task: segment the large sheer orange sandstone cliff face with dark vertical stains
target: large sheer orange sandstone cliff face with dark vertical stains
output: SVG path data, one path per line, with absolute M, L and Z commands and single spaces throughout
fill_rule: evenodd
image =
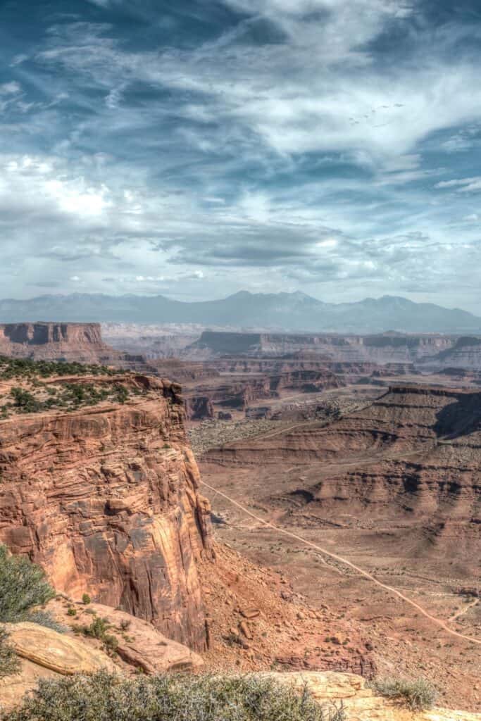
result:
M 144 394 L 125 404 L 0 422 L 0 541 L 58 590 L 88 592 L 200 650 L 195 562 L 209 545 L 208 508 L 180 389 L 130 382 Z

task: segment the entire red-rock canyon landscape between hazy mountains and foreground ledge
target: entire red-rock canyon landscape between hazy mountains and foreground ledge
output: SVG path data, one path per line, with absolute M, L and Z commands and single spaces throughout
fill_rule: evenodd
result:
M 177 359 L 112 351 L 97 328 L 9 330 L 17 358 L 112 355 L 78 375 L 0 364 L 0 542 L 69 598 L 52 606 L 63 623 L 89 593 L 106 617 L 146 624 L 120 642 L 136 663 L 151 628 L 172 663 L 422 673 L 444 704 L 480 709 L 462 639 L 481 638 L 477 373 L 423 365 L 455 339 L 360 338 L 312 350 L 286 335 L 205 359 L 194 343 Z

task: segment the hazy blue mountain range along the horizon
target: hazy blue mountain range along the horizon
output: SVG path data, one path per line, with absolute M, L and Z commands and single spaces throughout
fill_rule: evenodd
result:
M 74 293 L 0 300 L 0 322 L 196 323 L 206 327 L 291 332 L 481 333 L 481 318 L 461 309 L 383 296 L 357 303 L 323 303 L 304 293 L 241 291 L 219 301 L 185 303 L 165 296 Z

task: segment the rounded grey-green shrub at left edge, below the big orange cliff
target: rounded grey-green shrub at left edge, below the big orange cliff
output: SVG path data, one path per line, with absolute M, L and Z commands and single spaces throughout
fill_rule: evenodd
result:
M 0 622 L 24 621 L 30 609 L 53 596 L 39 566 L 25 556 L 12 556 L 0 545 Z

